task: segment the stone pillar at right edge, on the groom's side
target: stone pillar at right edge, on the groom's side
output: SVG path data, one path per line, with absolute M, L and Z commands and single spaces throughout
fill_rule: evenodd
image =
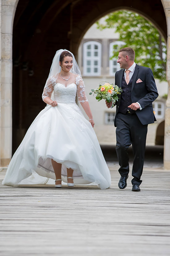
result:
M 164 169 L 170 170 L 170 0 L 162 0 L 167 20 L 167 81 L 168 99 L 165 110 L 165 135 L 164 135 Z

